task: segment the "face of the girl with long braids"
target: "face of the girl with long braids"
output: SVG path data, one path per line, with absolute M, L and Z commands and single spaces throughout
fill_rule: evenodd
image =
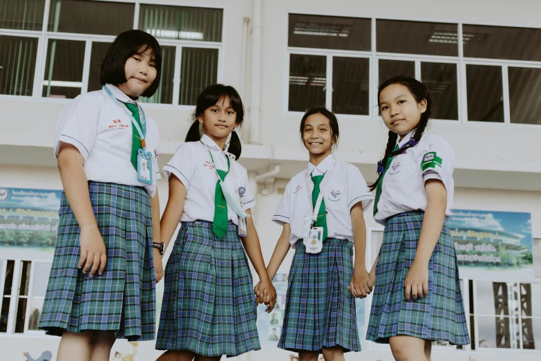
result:
M 402 84 L 390 84 L 379 94 L 379 110 L 386 127 L 400 138 L 410 133 L 426 111 L 426 100 L 417 102 Z

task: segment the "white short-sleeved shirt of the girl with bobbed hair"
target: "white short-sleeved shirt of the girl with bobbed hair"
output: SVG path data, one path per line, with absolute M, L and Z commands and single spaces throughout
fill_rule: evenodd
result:
M 107 87 L 120 102 L 137 104 L 116 86 L 107 84 Z M 156 181 L 162 178 L 158 167 L 158 124 L 146 116 L 146 151 L 152 154 L 153 167 L 153 183 L 148 185 L 137 179 L 137 170 L 131 164 L 133 125 L 122 107 L 124 104 L 115 102 L 104 89 L 78 95 L 59 115 L 55 126 L 55 156 L 58 157 L 60 142 L 69 143 L 84 158 L 86 179 L 144 187 L 153 198 Z

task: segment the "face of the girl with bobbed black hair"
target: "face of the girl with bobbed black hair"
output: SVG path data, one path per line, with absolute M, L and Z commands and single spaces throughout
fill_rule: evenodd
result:
M 156 79 L 158 71 L 155 65 L 151 48 L 132 55 L 124 65 L 126 82 L 117 85 L 118 89 L 131 98 L 139 97 Z

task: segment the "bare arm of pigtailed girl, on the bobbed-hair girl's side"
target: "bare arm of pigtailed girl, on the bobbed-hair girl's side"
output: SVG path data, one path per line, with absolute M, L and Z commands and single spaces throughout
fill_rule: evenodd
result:
M 169 199 L 160 221 L 161 239 L 164 242 L 164 252 L 177 229 L 178 222 L 184 210 L 184 199 L 187 189 L 180 179 L 171 173 L 169 178 Z

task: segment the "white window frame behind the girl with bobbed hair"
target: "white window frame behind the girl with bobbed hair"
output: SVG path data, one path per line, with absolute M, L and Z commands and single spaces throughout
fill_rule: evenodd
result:
M 218 68 L 216 82 L 223 82 L 224 76 L 224 48 L 226 46 L 225 29 L 227 26 L 228 7 L 230 6 L 205 6 L 204 4 L 195 3 L 190 1 L 189 3 L 182 3 L 182 5 L 171 4 L 164 0 L 150 1 L 150 0 L 87 0 L 87 1 L 106 1 L 106 2 L 118 2 L 118 3 L 134 3 L 135 10 L 133 16 L 133 29 L 137 29 L 139 26 L 140 6 L 144 5 L 164 5 L 164 6 L 178 6 L 178 7 L 196 7 L 196 8 L 212 8 L 222 10 L 222 41 L 197 41 L 197 40 L 180 40 L 180 39 L 164 39 L 157 38 L 161 46 L 174 46 L 175 47 L 175 64 L 173 71 L 173 102 L 171 104 L 162 103 L 149 103 L 141 102 L 143 108 L 158 108 L 158 109 L 180 109 L 192 111 L 195 105 L 179 104 L 180 94 L 180 71 L 182 68 L 181 57 L 182 48 L 209 48 L 218 49 Z M 85 53 L 82 75 L 82 87 L 81 94 L 88 92 L 88 77 L 90 76 L 90 59 L 92 42 L 113 42 L 115 36 L 113 35 L 96 35 L 96 34 L 82 34 L 82 33 L 59 33 L 48 31 L 48 17 L 50 12 L 50 0 L 45 0 L 44 10 L 44 22 L 41 31 L 36 30 L 17 30 L 17 29 L 0 29 L 0 35 L 13 36 L 13 37 L 33 37 L 38 39 L 37 54 L 36 54 L 36 66 L 34 72 L 34 82 L 32 84 L 32 96 L 25 95 L 7 95 L 0 94 L 0 99 L 6 100 L 38 100 L 39 102 L 51 102 L 68 104 L 73 99 L 62 98 L 47 98 L 43 95 L 43 83 L 45 76 L 45 67 L 47 63 L 47 48 L 49 39 L 59 40 L 73 40 L 73 41 L 85 41 Z M 146 99 L 146 98 L 145 98 Z

